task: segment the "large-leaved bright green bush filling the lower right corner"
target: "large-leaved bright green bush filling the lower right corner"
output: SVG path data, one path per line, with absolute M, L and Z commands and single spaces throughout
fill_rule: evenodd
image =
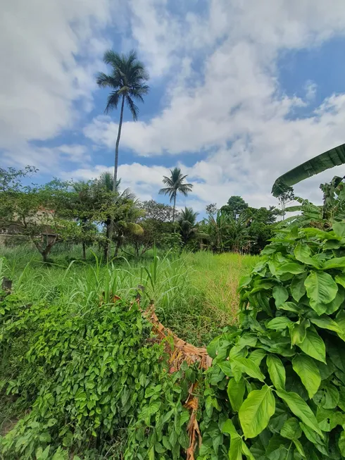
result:
M 208 347 L 199 459 L 345 458 L 345 223 L 282 230 Z

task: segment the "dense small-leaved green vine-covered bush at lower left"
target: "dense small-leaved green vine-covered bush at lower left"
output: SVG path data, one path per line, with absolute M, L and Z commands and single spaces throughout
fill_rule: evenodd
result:
M 0 302 L 0 392 L 20 420 L 0 440 L 1 459 L 180 459 L 184 402 L 196 376 L 170 374 L 164 347 L 134 302 L 23 305 Z

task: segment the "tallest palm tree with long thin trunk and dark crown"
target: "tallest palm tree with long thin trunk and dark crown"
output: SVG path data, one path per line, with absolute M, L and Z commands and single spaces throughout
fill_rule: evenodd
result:
M 120 144 L 121 129 L 123 125 L 123 110 L 125 102 L 132 113 L 134 121 L 138 118 L 139 108 L 134 101 L 144 102 L 143 96 L 149 92 L 146 81 L 149 80 L 149 74 L 145 70 L 144 64 L 138 60 L 137 53 L 130 51 L 129 54 L 118 54 L 115 51 L 108 50 L 104 53 L 103 61 L 112 68 L 111 74 L 99 73 L 97 75 L 97 85 L 112 89 L 108 96 L 105 112 L 120 108 L 120 121 L 118 124 L 118 137 L 115 144 L 115 162 L 113 175 L 113 190 L 116 189 L 118 180 L 118 146 Z M 113 230 L 113 220 L 111 220 L 111 229 Z M 107 256 L 110 257 L 110 244 L 107 248 Z

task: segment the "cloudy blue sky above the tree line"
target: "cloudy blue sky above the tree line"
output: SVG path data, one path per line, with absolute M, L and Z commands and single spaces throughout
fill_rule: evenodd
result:
M 125 111 L 119 176 L 139 199 L 178 166 L 194 185 L 178 206 L 232 195 L 277 205 L 282 173 L 345 142 L 344 0 L 4 0 L 0 164 L 35 182 L 113 170 L 119 111 L 104 115 L 106 49 L 136 49 L 150 92 Z M 296 185 L 318 185 L 345 166 Z

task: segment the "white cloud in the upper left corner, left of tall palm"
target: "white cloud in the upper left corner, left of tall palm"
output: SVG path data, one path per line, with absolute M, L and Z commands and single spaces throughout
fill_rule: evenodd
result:
M 99 34 L 110 18 L 111 0 L 2 2 L 0 149 L 70 128 L 77 99 L 90 108 L 94 72 L 108 46 Z

